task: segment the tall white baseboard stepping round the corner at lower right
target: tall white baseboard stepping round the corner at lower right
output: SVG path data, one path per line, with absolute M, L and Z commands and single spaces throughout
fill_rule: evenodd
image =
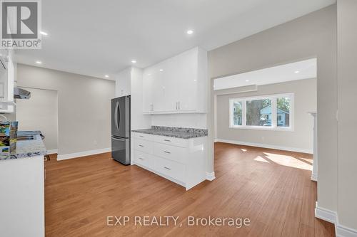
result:
M 343 226 L 338 222 L 338 214 L 336 213 L 336 211 L 331 211 L 319 207 L 317 201 L 315 208 L 315 217 L 335 224 L 336 237 L 357 237 L 357 230 Z

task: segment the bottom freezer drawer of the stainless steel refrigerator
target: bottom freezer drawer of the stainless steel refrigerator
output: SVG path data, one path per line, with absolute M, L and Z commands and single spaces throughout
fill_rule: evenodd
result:
M 130 164 L 130 139 L 111 137 L 111 157 L 121 164 Z

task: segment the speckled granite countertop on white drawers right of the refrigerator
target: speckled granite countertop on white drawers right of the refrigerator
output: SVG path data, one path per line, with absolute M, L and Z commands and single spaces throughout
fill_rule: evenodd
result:
M 186 127 L 151 126 L 150 129 L 131 130 L 131 131 L 152 134 L 152 135 L 166 136 L 166 137 L 177 137 L 183 139 L 189 139 L 194 137 L 206 137 L 208 135 L 208 130 L 206 129 L 186 128 Z

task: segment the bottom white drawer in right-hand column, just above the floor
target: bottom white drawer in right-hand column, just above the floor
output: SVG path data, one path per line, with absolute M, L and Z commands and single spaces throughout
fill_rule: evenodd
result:
M 155 157 L 154 167 L 156 172 L 185 183 L 185 166 L 183 164 L 172 162 L 169 159 Z

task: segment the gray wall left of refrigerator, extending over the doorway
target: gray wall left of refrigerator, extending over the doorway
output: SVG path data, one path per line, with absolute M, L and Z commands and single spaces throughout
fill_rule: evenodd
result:
M 18 64 L 17 85 L 58 91 L 59 154 L 111 147 L 114 81 Z

